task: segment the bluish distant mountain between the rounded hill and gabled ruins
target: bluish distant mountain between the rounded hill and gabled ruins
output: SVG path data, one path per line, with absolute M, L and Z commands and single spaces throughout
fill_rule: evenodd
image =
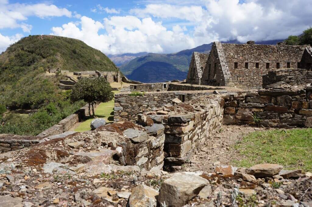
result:
M 275 45 L 277 42 L 283 40 L 270 40 L 270 41 L 258 41 L 256 44 L 263 45 Z M 237 40 L 222 42 L 222 43 L 232 43 L 232 44 L 241 44 Z M 155 54 L 149 53 L 147 55 L 137 57 L 128 63 L 120 66 L 120 70 L 127 78 L 145 82 L 145 83 L 155 83 L 155 82 L 165 82 L 168 80 L 179 79 L 183 80 L 187 76 L 189 63 L 192 58 L 193 52 L 200 53 L 209 53 L 211 50 L 210 44 L 203 44 L 201 46 L 197 46 L 192 49 L 182 50 L 176 53 L 171 54 Z M 149 64 L 148 64 L 149 63 Z M 163 64 L 166 63 L 166 64 Z M 152 65 L 155 64 L 155 65 Z M 161 67 L 159 71 L 163 71 L 164 73 L 157 73 L 157 77 L 155 77 L 154 72 L 148 72 L 149 70 L 157 70 L 157 66 Z M 139 69 L 139 70 L 137 70 Z M 177 70 L 181 71 L 178 73 Z M 145 77 L 147 76 L 145 73 L 142 75 L 142 72 L 146 72 L 146 74 L 153 74 L 153 77 Z M 177 76 L 173 76 L 172 74 L 176 74 Z M 144 77 L 141 77 L 144 76 Z M 146 79 L 146 81 L 143 81 Z

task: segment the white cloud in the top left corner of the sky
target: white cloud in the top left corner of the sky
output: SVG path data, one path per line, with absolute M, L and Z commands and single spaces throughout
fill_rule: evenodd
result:
M 39 18 L 61 16 L 72 17 L 72 13 L 66 8 L 59 8 L 53 4 L 10 4 L 7 0 L 0 0 L 0 29 L 22 28 L 24 32 L 30 33 L 32 26 L 24 21 L 31 16 Z M 79 14 L 75 13 L 75 17 L 80 18 L 81 15 L 79 16 Z

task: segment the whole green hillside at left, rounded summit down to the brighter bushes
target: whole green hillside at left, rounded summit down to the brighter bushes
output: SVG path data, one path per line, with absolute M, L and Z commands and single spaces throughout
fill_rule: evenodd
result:
M 0 133 L 36 135 L 85 104 L 70 103 L 68 92 L 58 89 L 62 74 L 46 74 L 56 68 L 118 70 L 106 55 L 80 40 L 50 35 L 21 39 L 0 55 L 0 106 L 11 112 L 32 109 L 37 113 L 0 114 Z

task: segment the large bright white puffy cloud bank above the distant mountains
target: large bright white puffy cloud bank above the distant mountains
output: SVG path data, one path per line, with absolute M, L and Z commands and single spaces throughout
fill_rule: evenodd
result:
M 99 34 L 102 29 L 105 29 L 105 34 Z M 80 28 L 70 22 L 62 27 L 53 27 L 51 34 L 80 39 L 105 54 L 163 53 L 195 46 L 193 39 L 183 33 L 184 29 L 175 27 L 170 31 L 162 26 L 162 22 L 134 16 L 109 17 L 103 23 L 81 17 Z

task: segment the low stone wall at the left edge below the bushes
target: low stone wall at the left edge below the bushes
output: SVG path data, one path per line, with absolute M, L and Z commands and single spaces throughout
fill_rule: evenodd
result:
M 0 134 L 0 152 L 19 150 L 39 143 L 37 137 Z

